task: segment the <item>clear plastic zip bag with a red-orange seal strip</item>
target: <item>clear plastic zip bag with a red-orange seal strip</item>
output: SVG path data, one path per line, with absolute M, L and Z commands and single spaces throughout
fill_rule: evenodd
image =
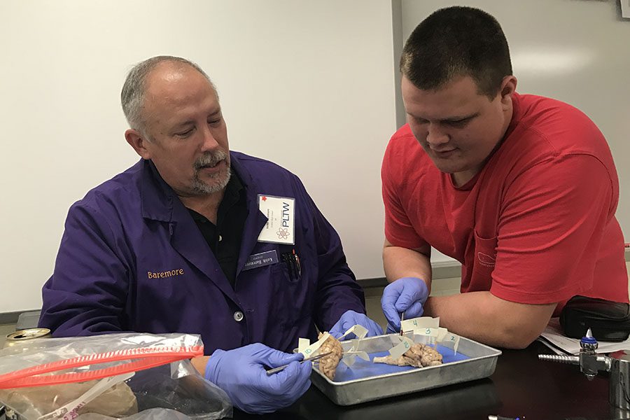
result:
M 22 420 L 231 416 L 228 395 L 190 363 L 202 355 L 197 335 L 34 339 L 0 351 L 0 402 Z

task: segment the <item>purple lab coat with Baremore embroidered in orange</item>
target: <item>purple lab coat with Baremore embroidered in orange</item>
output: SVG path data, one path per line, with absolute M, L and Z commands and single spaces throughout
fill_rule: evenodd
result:
M 299 337 L 316 338 L 315 325 L 328 330 L 348 309 L 365 313 L 339 236 L 300 179 L 272 162 L 230 155 L 248 209 L 234 288 L 186 207 L 141 160 L 70 208 L 39 325 L 57 337 L 197 333 L 211 354 L 253 342 L 290 351 Z M 258 242 L 267 222 L 258 194 L 295 198 L 295 245 Z M 297 281 L 280 258 L 243 270 L 249 255 L 294 248 Z

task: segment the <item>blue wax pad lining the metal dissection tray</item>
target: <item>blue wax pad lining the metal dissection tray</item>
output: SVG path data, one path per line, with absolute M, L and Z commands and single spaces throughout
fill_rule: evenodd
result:
M 462 353 L 454 354 L 453 349 L 448 347 L 437 345 L 437 351 L 442 354 L 442 363 L 457 362 L 459 360 L 466 360 L 469 357 Z M 348 366 L 343 362 L 339 362 L 337 366 L 337 373 L 335 374 L 335 382 L 353 381 L 354 379 L 368 378 L 379 376 L 381 374 L 390 374 L 405 372 L 407 370 L 422 369 L 421 367 L 412 366 L 394 366 L 386 365 L 385 363 L 373 363 L 374 357 L 387 356 L 388 351 L 379 351 L 378 353 L 369 353 L 370 361 L 363 360 L 362 358 L 355 358 L 355 362 L 352 366 Z

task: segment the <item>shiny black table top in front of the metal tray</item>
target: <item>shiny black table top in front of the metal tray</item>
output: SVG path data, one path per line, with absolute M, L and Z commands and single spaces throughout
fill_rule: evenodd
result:
M 486 379 L 340 407 L 315 386 L 295 404 L 273 414 L 235 419 L 472 420 L 490 414 L 521 419 L 628 419 L 608 403 L 608 373 L 589 381 L 577 365 L 538 360 L 552 353 L 540 342 L 524 350 L 503 350 Z

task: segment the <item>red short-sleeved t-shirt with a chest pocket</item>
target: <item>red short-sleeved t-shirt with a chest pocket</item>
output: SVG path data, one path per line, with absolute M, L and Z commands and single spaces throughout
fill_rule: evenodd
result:
M 503 144 L 461 187 L 440 172 L 409 125 L 387 146 L 385 236 L 433 246 L 462 264 L 461 291 L 559 302 L 573 295 L 628 302 L 619 181 L 603 134 L 581 111 L 514 94 Z

